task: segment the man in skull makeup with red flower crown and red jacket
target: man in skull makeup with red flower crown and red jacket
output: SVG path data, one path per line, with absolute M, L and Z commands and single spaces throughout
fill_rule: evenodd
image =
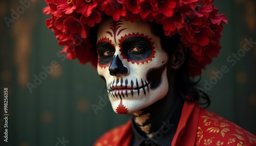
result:
M 212 1 L 46 3 L 47 26 L 63 52 L 97 64 L 113 110 L 132 114 L 95 145 L 256 144 L 248 131 L 200 108 L 208 95 L 189 79 L 220 49 L 227 21 Z

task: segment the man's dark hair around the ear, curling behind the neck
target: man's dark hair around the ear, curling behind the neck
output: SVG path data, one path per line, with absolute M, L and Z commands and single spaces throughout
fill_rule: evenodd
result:
M 182 42 L 180 41 L 180 35 L 176 34 L 172 37 L 168 37 L 164 35 L 163 26 L 161 24 L 157 24 L 156 22 L 151 22 L 151 30 L 152 33 L 158 37 L 160 37 L 160 43 L 164 52 L 170 56 Z M 209 96 L 197 87 L 201 76 L 198 81 L 194 82 L 189 78 L 188 75 L 188 60 L 190 57 L 191 51 L 187 48 L 186 58 L 183 65 L 176 71 L 175 74 L 175 90 L 177 94 L 181 96 L 185 101 L 188 102 L 196 102 L 202 100 L 203 102 L 199 102 L 201 105 L 205 105 L 207 108 L 210 105 Z M 189 95 L 192 99 L 187 99 L 185 95 Z

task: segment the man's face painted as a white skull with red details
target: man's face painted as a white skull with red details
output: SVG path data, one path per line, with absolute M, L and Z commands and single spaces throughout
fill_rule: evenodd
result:
M 97 52 L 97 71 L 106 81 L 116 113 L 137 112 L 167 94 L 168 56 L 147 23 L 104 19 L 98 29 Z

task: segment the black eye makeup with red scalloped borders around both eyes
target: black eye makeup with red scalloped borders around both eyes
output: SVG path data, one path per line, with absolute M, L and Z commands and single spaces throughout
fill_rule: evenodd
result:
M 152 61 L 156 53 L 151 38 L 138 33 L 121 37 L 119 46 L 122 58 L 132 62 L 132 64 L 144 64 Z M 112 41 L 109 38 L 102 38 L 98 41 L 96 49 L 99 56 L 99 66 L 104 68 L 109 66 L 116 51 Z

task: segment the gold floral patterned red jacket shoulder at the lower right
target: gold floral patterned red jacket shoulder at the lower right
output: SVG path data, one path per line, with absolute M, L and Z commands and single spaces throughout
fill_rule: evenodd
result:
M 203 140 L 201 140 L 203 139 Z M 205 109 L 198 120 L 196 145 L 253 145 L 256 137 L 236 124 Z M 255 143 L 254 143 L 255 144 Z

